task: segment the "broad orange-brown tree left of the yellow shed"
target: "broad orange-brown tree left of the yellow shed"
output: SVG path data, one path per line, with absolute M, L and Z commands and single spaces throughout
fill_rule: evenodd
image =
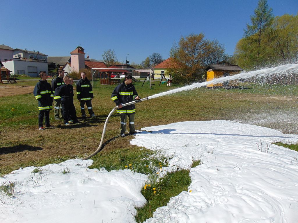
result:
M 175 67 L 169 68 L 176 83 L 191 83 L 201 81 L 204 75 L 204 62 L 210 51 L 210 41 L 203 33 L 181 36 L 178 44 L 175 42 L 170 51 Z

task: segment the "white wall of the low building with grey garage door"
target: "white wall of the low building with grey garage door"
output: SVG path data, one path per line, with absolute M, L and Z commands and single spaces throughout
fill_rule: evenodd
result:
M 21 71 L 21 74 L 28 75 L 30 77 L 38 77 L 40 71 L 45 71 L 48 74 L 48 63 L 46 62 L 32 62 L 24 60 L 10 60 L 3 62 L 4 67 L 8 70 L 11 70 L 13 74 L 18 74 L 18 70 Z M 37 67 L 37 73 L 28 73 L 30 72 L 30 67 Z M 29 71 L 28 71 L 29 70 Z M 24 73 L 23 73 L 24 72 Z

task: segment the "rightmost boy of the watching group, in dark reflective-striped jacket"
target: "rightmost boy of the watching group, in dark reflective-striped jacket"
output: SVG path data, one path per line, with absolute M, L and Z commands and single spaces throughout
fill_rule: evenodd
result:
M 80 101 L 82 117 L 86 117 L 85 103 L 91 117 L 95 117 L 92 109 L 91 100 L 93 99 L 93 91 L 90 81 L 86 77 L 86 73 L 81 73 L 81 79 L 77 81 L 77 99 Z

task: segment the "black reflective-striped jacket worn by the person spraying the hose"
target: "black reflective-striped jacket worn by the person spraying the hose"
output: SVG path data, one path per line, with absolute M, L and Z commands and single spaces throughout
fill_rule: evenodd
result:
M 115 87 L 114 91 L 112 92 L 111 99 L 116 103 L 116 105 L 119 105 L 121 103 L 125 104 L 131 102 L 135 100 L 137 96 L 138 93 L 136 92 L 134 85 L 129 84 L 126 86 L 123 81 L 122 84 L 119 84 L 117 87 Z M 117 109 L 117 114 L 134 114 L 136 112 L 135 108 L 135 104 L 131 104 L 122 107 L 121 109 Z

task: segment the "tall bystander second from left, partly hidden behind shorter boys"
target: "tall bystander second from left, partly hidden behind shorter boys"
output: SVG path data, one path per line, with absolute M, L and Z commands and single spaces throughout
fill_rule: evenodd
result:
M 55 93 L 55 89 L 63 85 L 64 70 L 58 70 L 58 77 L 52 80 L 52 91 Z M 54 118 L 56 120 L 62 119 L 62 107 L 61 107 L 61 97 L 59 95 L 54 95 Z

